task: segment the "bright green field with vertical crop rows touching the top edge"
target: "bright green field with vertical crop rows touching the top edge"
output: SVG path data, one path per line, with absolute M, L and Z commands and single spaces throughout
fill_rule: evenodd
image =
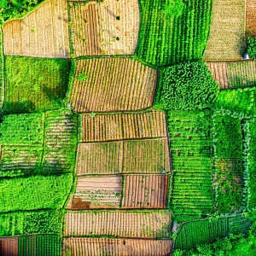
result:
M 140 0 L 137 56 L 155 66 L 201 60 L 212 0 Z

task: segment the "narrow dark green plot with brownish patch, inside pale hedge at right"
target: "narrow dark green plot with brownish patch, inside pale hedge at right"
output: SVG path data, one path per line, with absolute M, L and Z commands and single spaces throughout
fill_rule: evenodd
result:
M 216 207 L 219 213 L 240 212 L 243 188 L 241 119 L 216 113 L 212 122 Z

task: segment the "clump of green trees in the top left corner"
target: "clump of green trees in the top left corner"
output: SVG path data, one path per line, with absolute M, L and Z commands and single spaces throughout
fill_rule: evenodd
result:
M 44 0 L 0 0 L 0 25 L 4 21 L 19 18 L 34 9 Z

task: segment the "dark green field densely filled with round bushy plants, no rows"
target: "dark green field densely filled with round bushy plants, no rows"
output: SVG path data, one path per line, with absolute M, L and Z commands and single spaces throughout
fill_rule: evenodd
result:
M 155 105 L 165 110 L 209 108 L 218 90 L 204 62 L 181 63 L 160 69 Z

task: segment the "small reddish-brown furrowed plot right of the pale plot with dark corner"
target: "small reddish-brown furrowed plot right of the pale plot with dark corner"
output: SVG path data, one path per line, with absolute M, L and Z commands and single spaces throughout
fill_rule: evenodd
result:
M 166 208 L 168 175 L 125 176 L 124 208 Z

